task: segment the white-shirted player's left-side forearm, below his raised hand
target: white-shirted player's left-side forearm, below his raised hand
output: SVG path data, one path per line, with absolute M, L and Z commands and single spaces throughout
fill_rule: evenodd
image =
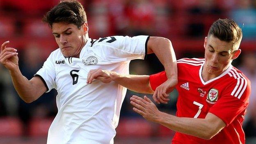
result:
M 35 95 L 37 94 L 36 87 L 27 80 L 25 76 L 21 74 L 19 69 L 9 71 L 11 75 L 11 80 L 13 82 L 14 88 L 16 89 L 18 95 L 26 103 L 31 103 L 35 100 Z

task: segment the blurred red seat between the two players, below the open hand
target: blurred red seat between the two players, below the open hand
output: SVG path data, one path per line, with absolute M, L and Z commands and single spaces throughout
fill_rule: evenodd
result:
M 117 126 L 117 137 L 150 137 L 152 124 L 144 119 L 121 119 Z

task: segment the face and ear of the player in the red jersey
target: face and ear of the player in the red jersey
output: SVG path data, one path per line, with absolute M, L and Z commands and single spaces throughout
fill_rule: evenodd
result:
M 231 64 L 232 60 L 237 58 L 241 50 L 239 44 L 221 41 L 214 36 L 205 38 L 205 64 L 203 72 L 215 77 L 221 75 Z

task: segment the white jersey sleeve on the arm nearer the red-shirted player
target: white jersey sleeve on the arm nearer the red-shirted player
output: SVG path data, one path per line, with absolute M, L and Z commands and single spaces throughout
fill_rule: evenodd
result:
M 112 62 L 145 59 L 149 36 L 112 36 L 95 41 L 93 51 Z

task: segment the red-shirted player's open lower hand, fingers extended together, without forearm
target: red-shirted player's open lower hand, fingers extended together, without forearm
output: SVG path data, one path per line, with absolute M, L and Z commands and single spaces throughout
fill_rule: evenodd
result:
M 132 96 L 130 103 L 134 106 L 133 110 L 142 115 L 146 120 L 157 122 L 159 119 L 160 111 L 155 104 L 146 96 L 140 98 L 138 96 Z

